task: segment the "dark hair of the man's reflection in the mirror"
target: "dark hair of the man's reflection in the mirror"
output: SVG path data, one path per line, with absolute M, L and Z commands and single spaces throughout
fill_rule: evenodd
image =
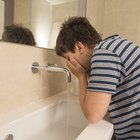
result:
M 5 26 L 1 40 L 26 45 L 36 45 L 32 32 L 28 28 L 18 24 Z

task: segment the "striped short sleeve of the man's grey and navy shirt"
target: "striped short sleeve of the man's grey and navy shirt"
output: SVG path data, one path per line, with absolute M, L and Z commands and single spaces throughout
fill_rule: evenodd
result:
M 115 53 L 105 49 L 94 51 L 87 90 L 115 94 L 122 67 L 120 57 Z

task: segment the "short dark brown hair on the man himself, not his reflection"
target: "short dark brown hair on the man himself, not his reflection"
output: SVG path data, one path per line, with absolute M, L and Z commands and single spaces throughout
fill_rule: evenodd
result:
M 74 52 L 75 43 L 80 41 L 89 48 L 101 41 L 99 33 L 85 17 L 70 17 L 65 21 L 56 41 L 56 54 L 63 56 L 64 53 Z

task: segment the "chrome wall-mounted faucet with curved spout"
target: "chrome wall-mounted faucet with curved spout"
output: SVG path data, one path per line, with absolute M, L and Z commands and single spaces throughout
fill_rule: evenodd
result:
M 67 80 L 71 82 L 71 74 L 70 71 L 64 67 L 58 67 L 57 64 L 48 64 L 47 66 L 39 66 L 38 62 L 34 62 L 32 64 L 32 72 L 37 73 L 39 70 L 46 70 L 48 72 L 64 72 L 67 76 Z

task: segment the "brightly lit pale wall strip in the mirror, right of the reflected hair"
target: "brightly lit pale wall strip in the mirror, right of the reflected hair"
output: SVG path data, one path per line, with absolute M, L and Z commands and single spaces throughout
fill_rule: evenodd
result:
M 46 0 L 32 0 L 31 30 L 38 46 L 47 48 L 52 28 L 52 5 Z

